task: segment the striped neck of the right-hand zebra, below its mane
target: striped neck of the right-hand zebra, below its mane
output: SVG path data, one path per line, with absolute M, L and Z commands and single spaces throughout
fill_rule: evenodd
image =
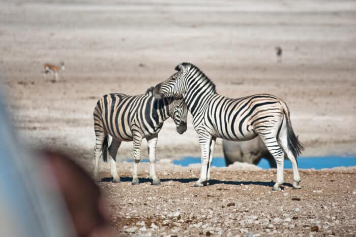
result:
M 200 78 L 192 81 L 188 90 L 183 94 L 184 101 L 189 111 L 194 116 L 209 101 L 215 92 L 215 86 L 209 79 Z

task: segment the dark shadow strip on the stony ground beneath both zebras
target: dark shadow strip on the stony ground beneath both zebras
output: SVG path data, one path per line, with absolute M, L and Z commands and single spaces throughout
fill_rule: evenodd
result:
M 120 177 L 121 182 L 132 182 L 132 177 Z M 146 179 L 146 178 L 138 178 L 139 183 L 152 183 L 152 179 Z M 180 182 L 180 183 L 193 183 L 196 182 L 198 179 L 197 178 L 181 178 L 181 179 L 161 179 L 161 182 Z M 101 180 L 101 182 L 112 182 L 112 177 L 106 177 Z M 264 182 L 264 181 L 221 181 L 221 180 L 210 180 L 209 181 L 209 186 L 211 185 L 216 185 L 216 184 L 225 184 L 225 185 L 259 185 L 259 186 L 265 186 L 265 187 L 273 187 L 275 184 L 274 181 L 269 181 L 269 182 Z M 292 184 L 290 183 L 283 183 L 283 186 L 288 186 L 288 187 L 293 187 Z M 281 186 L 281 189 L 283 187 Z

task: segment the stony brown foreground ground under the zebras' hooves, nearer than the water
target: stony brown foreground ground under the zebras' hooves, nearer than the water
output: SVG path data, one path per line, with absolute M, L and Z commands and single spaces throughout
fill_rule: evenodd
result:
M 276 170 L 238 165 L 213 168 L 209 186 L 194 188 L 197 167 L 159 163 L 162 184 L 151 185 L 148 164 L 131 185 L 132 163 L 121 164 L 122 182 L 104 178 L 118 236 L 355 236 L 353 168 L 302 170 L 302 189 L 292 189 L 285 171 L 283 191 L 273 192 Z M 144 171 L 144 172 L 143 172 Z M 109 177 L 109 173 L 105 173 Z M 249 235 L 250 234 L 250 235 Z

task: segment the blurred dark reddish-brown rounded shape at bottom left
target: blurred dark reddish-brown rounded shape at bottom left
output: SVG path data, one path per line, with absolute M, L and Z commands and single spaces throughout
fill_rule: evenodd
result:
M 110 215 L 97 184 L 64 154 L 44 151 L 72 217 L 78 236 L 112 236 Z

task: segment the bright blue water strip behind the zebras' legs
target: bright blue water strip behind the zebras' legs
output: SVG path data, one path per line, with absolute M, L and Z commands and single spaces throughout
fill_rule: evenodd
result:
M 200 158 L 198 157 L 185 157 L 181 160 L 173 160 L 173 164 L 178 164 L 182 166 L 188 166 L 189 164 L 200 163 Z M 212 162 L 213 166 L 224 167 L 225 159 L 216 157 Z M 270 164 L 266 159 L 261 159 L 257 166 L 268 169 Z M 356 157 L 339 157 L 339 156 L 323 156 L 323 157 L 299 157 L 298 167 L 299 168 L 315 168 L 315 170 L 320 170 L 321 168 L 333 168 L 339 166 L 356 166 Z M 292 164 L 289 160 L 284 160 L 284 168 L 292 168 Z

